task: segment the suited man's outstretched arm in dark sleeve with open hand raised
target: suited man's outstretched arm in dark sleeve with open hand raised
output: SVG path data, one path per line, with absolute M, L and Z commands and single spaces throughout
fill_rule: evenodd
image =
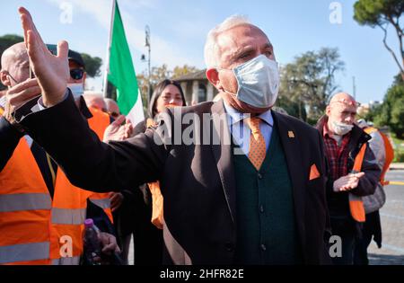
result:
M 157 180 L 169 149 L 154 142 L 154 129 L 125 142 L 102 143 L 66 91 L 66 41 L 59 42 L 57 56 L 52 55 L 31 14 L 24 8 L 19 12 L 31 67 L 47 107 L 23 115 L 22 127 L 56 160 L 69 181 L 85 190 L 125 190 Z

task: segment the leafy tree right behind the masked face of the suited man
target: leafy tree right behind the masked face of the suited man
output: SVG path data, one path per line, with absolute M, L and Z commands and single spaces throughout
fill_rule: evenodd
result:
M 316 121 L 324 113 L 329 97 L 337 91 L 335 75 L 344 67 L 338 49 L 305 52 L 281 68 L 280 97 L 297 103 L 297 117 Z

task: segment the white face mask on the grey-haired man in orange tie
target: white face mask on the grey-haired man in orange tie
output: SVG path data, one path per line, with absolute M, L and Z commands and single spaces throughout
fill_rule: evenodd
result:
M 258 108 L 268 108 L 277 102 L 279 71 L 276 61 L 259 55 L 235 67 L 233 73 L 239 89 L 231 94 L 236 95 L 239 101 Z

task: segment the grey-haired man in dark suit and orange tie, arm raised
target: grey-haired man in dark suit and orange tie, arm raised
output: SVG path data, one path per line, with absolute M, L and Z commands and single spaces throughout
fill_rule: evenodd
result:
M 233 16 L 209 32 L 206 76 L 223 101 L 171 108 L 145 134 L 103 144 L 77 118 L 66 91 L 66 41 L 58 57 L 52 56 L 31 15 L 23 8 L 20 13 L 48 109 L 13 123 L 30 130 L 68 178 L 88 190 L 160 181 L 164 263 L 330 262 L 321 136 L 271 111 L 279 75 L 263 31 Z M 193 137 L 203 144 L 177 139 L 189 135 L 189 117 L 193 124 L 200 121 Z

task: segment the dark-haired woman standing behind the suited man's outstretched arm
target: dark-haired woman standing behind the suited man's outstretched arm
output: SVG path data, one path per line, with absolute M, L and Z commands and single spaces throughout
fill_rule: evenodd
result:
M 180 84 L 163 80 L 156 85 L 150 100 L 148 117 L 134 128 L 134 136 L 154 125 L 156 116 L 167 107 L 186 106 Z M 140 190 L 125 196 L 120 207 L 123 257 L 127 257 L 131 234 L 134 235 L 135 264 L 161 265 L 162 240 L 162 194 L 159 182 L 144 184 Z M 140 209 L 143 208 L 143 209 Z

